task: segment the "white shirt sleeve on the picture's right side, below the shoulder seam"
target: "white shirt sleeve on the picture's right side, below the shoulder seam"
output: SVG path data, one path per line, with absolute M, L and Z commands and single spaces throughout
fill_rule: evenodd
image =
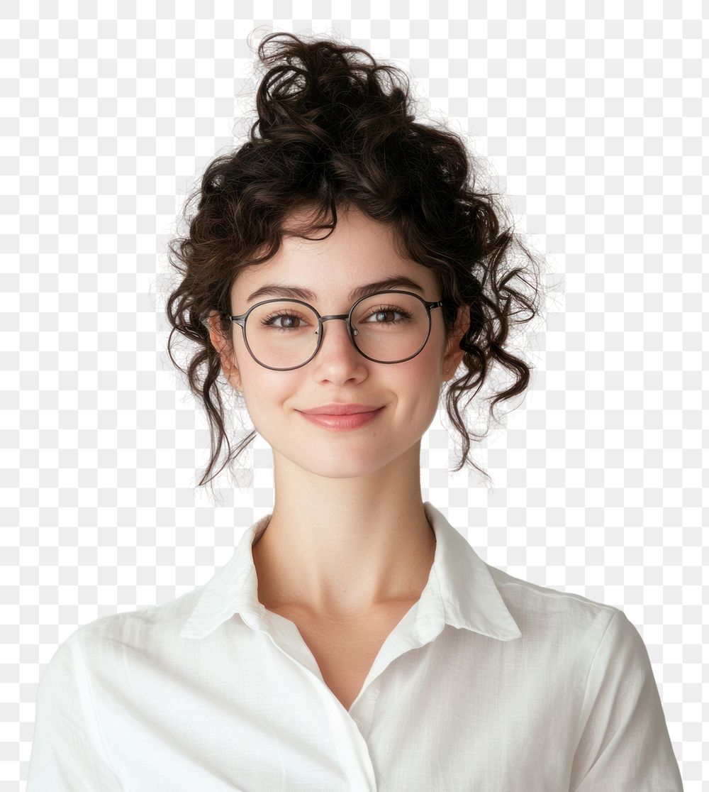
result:
M 612 615 L 591 662 L 570 792 L 682 792 L 643 638 Z

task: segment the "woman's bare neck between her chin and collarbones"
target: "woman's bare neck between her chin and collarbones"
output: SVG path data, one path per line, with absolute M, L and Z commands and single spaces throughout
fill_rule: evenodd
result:
M 418 463 L 418 457 L 416 459 Z M 252 546 L 259 600 L 330 619 L 415 601 L 434 562 L 416 475 L 276 477 L 275 506 Z

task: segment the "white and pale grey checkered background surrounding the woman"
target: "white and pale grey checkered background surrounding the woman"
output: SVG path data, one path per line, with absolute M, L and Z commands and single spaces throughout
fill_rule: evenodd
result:
M 0 792 L 25 787 L 57 645 L 206 582 L 273 504 L 260 438 L 236 484 L 195 491 L 207 422 L 169 363 L 163 313 L 185 194 L 252 112 L 254 29 L 256 43 L 336 32 L 404 68 L 544 253 L 532 386 L 475 451 L 494 485 L 449 473 L 442 414 L 423 438 L 423 497 L 492 565 L 625 611 L 685 789 L 709 789 L 701 3 L 100 9 L 0 4 Z

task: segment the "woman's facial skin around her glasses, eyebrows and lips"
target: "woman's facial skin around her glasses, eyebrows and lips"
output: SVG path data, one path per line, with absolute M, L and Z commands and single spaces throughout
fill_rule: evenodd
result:
M 336 230 L 328 239 L 313 242 L 286 236 L 275 257 L 242 271 L 233 284 L 232 311 L 244 314 L 264 299 L 282 296 L 248 300 L 264 284 L 282 284 L 313 291 L 315 296 L 306 302 L 321 315 L 347 314 L 354 287 L 399 275 L 419 284 L 423 299 L 441 299 L 435 273 L 402 259 L 391 230 L 359 211 L 338 212 Z M 220 348 L 215 314 L 211 321 L 212 342 Z M 323 328 L 313 360 L 290 371 L 271 371 L 252 358 L 241 327 L 233 323 L 233 357 L 225 347 L 222 367 L 230 383 L 242 391 L 256 430 L 275 455 L 328 478 L 376 473 L 407 452 L 418 466 L 419 441 L 435 417 L 440 386 L 461 360 L 460 335 L 452 337 L 452 353 L 446 356 L 442 309 L 434 308 L 430 336 L 421 352 L 403 363 L 381 364 L 354 348 L 346 322 L 333 319 Z M 313 424 L 299 412 L 330 402 L 384 409 L 369 424 L 349 431 Z

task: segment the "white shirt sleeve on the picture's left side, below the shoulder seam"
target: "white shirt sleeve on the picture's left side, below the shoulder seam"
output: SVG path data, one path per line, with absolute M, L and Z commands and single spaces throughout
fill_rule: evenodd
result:
M 81 628 L 49 661 L 37 688 L 26 792 L 121 792 L 97 722 Z

